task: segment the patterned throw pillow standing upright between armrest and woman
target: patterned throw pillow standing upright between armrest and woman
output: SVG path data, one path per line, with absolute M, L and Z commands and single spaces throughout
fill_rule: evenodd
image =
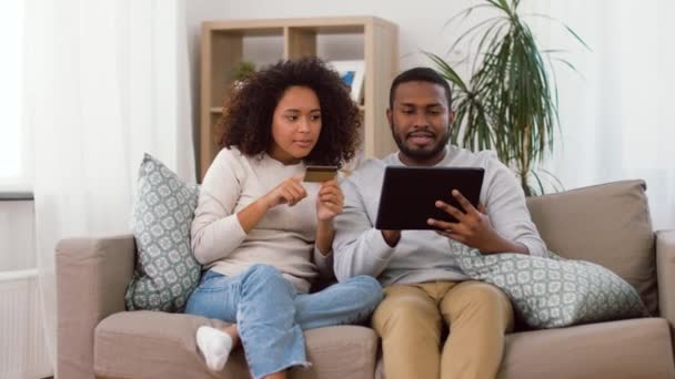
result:
M 149 154 L 138 185 L 131 222 L 138 259 L 127 286 L 127 308 L 181 311 L 201 272 L 190 248 L 199 187 L 187 185 Z

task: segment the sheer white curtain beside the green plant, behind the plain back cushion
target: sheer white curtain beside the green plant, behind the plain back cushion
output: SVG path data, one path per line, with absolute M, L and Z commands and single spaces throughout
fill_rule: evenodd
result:
M 625 178 L 647 183 L 655 228 L 675 228 L 675 1 L 528 1 L 535 34 L 580 71 L 557 65 L 561 135 L 550 168 L 566 188 Z

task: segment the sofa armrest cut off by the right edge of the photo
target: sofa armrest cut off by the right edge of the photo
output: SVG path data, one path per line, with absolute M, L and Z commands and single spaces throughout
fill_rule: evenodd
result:
M 658 311 L 675 327 L 675 229 L 656 232 L 656 276 Z M 671 331 L 673 336 L 673 331 Z

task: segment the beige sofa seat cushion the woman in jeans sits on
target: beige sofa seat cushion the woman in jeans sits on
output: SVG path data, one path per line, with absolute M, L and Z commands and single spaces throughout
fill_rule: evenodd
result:
M 197 348 L 202 325 L 224 322 L 199 316 L 159 311 L 124 311 L 103 319 L 94 331 L 94 372 L 103 378 L 248 378 L 238 348 L 222 372 L 213 373 Z M 304 332 L 309 369 L 291 378 L 373 378 L 377 337 L 360 326 L 336 326 Z

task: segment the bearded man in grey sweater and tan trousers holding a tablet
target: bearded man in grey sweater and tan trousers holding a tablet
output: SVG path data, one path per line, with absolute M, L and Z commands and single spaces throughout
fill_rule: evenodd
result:
M 386 286 L 372 322 L 382 337 L 387 379 L 494 378 L 513 309 L 496 287 L 469 280 L 452 246 L 545 256 L 523 191 L 494 153 L 447 145 L 452 95 L 435 71 L 416 68 L 396 76 L 386 117 L 400 151 L 365 162 L 343 182 L 344 212 L 335 218 L 333 243 L 335 274 L 340 280 L 372 275 Z M 430 219 L 437 232 L 375 229 L 372 221 L 386 165 L 483 167 L 481 205 L 476 209 L 447 188 L 465 213 L 440 201 L 436 206 L 457 223 Z M 445 325 L 450 335 L 441 349 Z

